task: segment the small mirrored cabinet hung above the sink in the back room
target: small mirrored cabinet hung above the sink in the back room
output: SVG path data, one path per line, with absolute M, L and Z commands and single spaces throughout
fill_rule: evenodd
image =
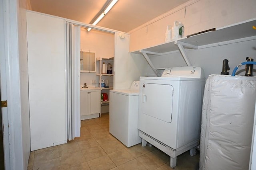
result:
M 80 71 L 96 72 L 95 53 L 90 51 L 80 51 Z

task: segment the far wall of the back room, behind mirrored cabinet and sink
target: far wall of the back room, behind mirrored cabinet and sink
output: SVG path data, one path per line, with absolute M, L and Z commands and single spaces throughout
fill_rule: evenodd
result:
M 80 48 L 83 51 L 91 51 L 95 53 L 96 58 L 114 57 L 114 33 L 106 31 L 98 31 L 92 29 L 89 32 L 85 27 L 81 27 Z M 81 50 L 80 49 L 80 50 Z M 96 65 L 99 69 L 99 64 Z M 96 84 L 92 84 L 92 80 L 96 80 Z M 109 79 L 109 83 L 113 84 L 113 78 Z M 99 76 L 96 73 L 80 73 L 80 86 L 86 83 L 88 86 L 99 86 Z

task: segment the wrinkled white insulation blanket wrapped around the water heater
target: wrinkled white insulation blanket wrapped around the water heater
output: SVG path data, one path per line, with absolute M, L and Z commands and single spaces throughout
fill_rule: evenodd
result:
M 256 77 L 210 75 L 202 106 L 200 170 L 248 170 Z

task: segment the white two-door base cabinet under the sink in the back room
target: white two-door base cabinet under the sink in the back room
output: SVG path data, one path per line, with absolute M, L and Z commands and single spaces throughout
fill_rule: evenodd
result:
M 81 120 L 99 117 L 100 89 L 80 90 L 80 117 Z

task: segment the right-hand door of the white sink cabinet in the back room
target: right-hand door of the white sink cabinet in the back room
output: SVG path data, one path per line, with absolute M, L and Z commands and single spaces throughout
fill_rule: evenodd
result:
M 90 91 L 89 114 L 100 113 L 100 90 Z

